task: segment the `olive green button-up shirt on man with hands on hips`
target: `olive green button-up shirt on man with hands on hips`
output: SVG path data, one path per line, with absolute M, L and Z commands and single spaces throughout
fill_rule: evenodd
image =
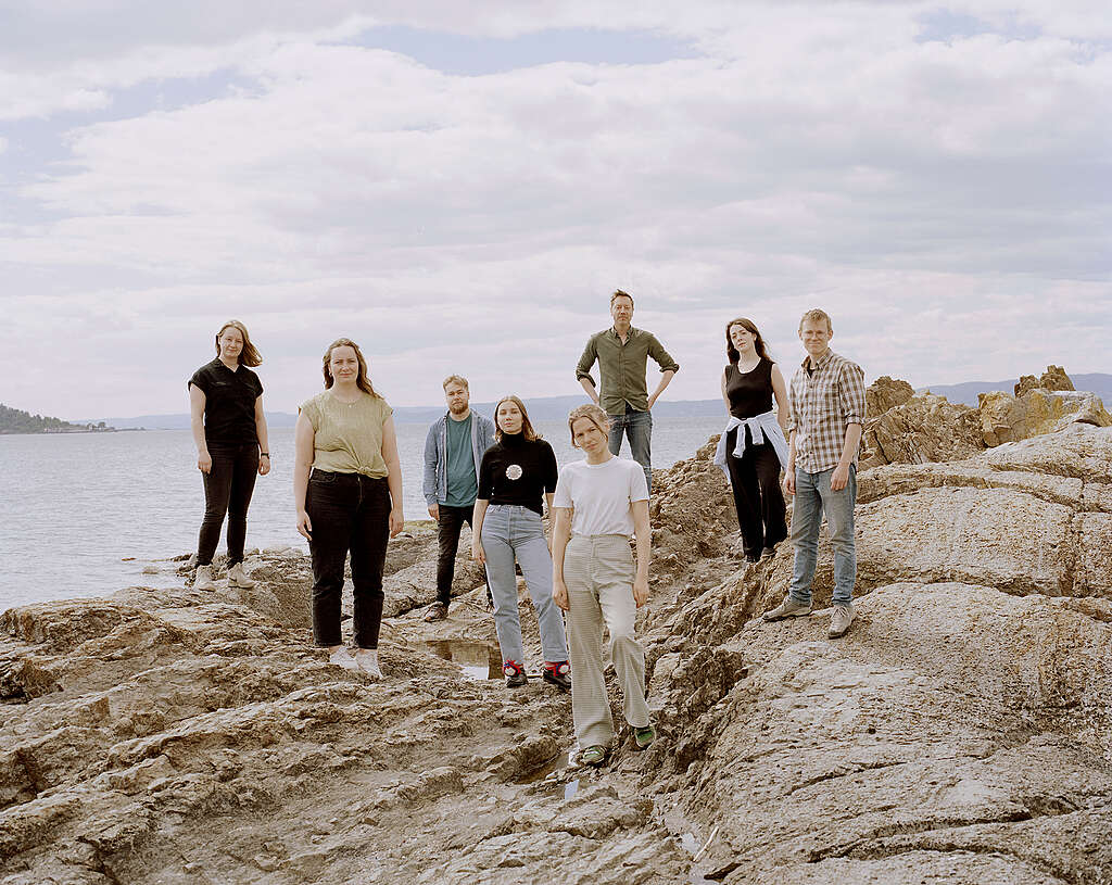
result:
M 576 378 L 587 378 L 592 384 L 590 367 L 598 360 L 600 389 L 598 404 L 607 415 L 623 415 L 626 404 L 637 411 L 648 411 L 648 388 L 645 386 L 645 366 L 652 357 L 661 371 L 679 371 L 676 362 L 656 336 L 644 329 L 629 327 L 625 344 L 612 326 L 590 336 L 575 367 Z

